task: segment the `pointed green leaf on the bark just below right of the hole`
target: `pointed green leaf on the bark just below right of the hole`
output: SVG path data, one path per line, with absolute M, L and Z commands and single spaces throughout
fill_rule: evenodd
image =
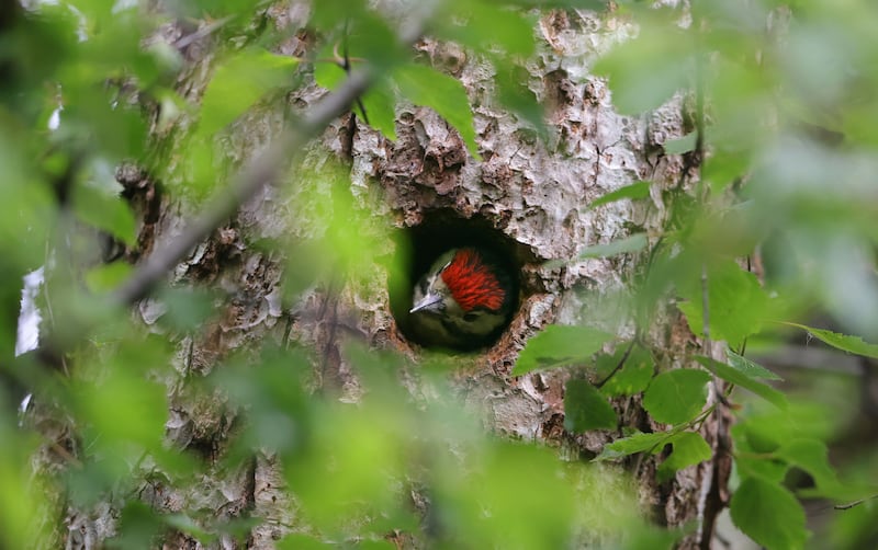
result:
M 526 375 L 539 368 L 585 363 L 612 337 L 612 334 L 587 326 L 550 324 L 528 340 L 518 356 L 513 376 Z

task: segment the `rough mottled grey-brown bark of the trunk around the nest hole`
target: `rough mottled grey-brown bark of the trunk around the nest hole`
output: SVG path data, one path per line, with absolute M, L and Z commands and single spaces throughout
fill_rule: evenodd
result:
M 308 35 L 296 34 L 301 10 L 294 4 L 269 11 L 270 19 L 291 36 L 282 54 L 302 55 L 309 47 Z M 680 180 L 683 160 L 665 156 L 662 145 L 688 131 L 684 128 L 683 102 L 677 99 L 643 116 L 622 116 L 614 111 L 606 82 L 589 75 L 599 54 L 633 32 L 630 23 L 612 12 L 543 14 L 534 28 L 539 53 L 527 62 L 522 79 L 545 106 L 548 144 L 498 104 L 491 64 L 454 45 L 425 38 L 417 44 L 423 57 L 459 78 L 469 92 L 482 160 L 468 154 L 458 133 L 435 112 L 410 105 L 397 112 L 395 142 L 347 116 L 326 129 L 304 160 L 305 167 L 318 168 L 329 157 L 341 159 L 349 167 L 354 205 L 369 213 L 375 227 L 403 229 L 430 219 L 441 224 L 441 216 L 446 216 L 477 219 L 483 225 L 480 227 L 493 228 L 509 239 L 509 253 L 516 255 L 522 270 L 520 307 L 496 345 L 462 360 L 463 366 L 453 375 L 455 385 L 491 429 L 563 447 L 573 457 L 593 457 L 621 433 L 573 435 L 563 429 L 563 386 L 569 371 L 516 378 L 510 370 L 526 341 L 548 323 L 586 323 L 622 336 L 633 335 L 630 321 L 619 316 L 621 306 L 614 290 L 621 288 L 642 259 L 615 256 L 570 261 L 563 267 L 545 265 L 550 260 L 573 259 L 584 247 L 626 237 L 634 227 L 655 230 L 664 214 L 662 191 Z M 210 37 L 190 45 L 184 54 L 191 65 L 181 77 L 179 90 L 198 103 L 213 61 Z M 289 98 L 289 106 L 306 110 L 325 93 L 307 85 Z M 239 164 L 264 148 L 282 122 L 283 113 L 277 108 L 257 108 L 236 123 L 221 149 L 230 164 Z M 156 140 L 165 151 L 175 150 L 175 140 L 182 134 L 156 127 Z M 169 154 L 162 183 L 170 190 L 184 188 L 185 173 L 177 165 L 179 160 Z M 244 205 L 235 219 L 218 228 L 173 274 L 181 284 L 222 287 L 232 296 L 218 305 L 221 313 L 212 324 L 177 342 L 179 379 L 169 385 L 168 437 L 176 446 L 196 449 L 206 460 L 222 455 L 226 436 L 240 419 L 219 396 L 200 394 L 190 387 L 189 378 L 216 368 L 236 350 L 264 341 L 306 343 L 320 352 L 322 364 L 315 368 L 323 377 L 322 385 L 341 399 L 357 399 L 359 388 L 340 351 L 341 342 L 351 334 L 372 346 L 419 357 L 419 347 L 406 340 L 394 320 L 387 273 L 380 263 L 357 280 L 335 280 L 305 293 L 295 303 L 282 302 L 283 253 L 248 243 L 280 236 L 293 242 L 320 236 L 327 228 L 312 211 L 309 200 L 315 193 L 331 193 L 317 180 L 290 180 L 266 187 Z M 620 202 L 586 209 L 594 199 L 638 180 L 653 182 L 651 205 Z M 149 186 L 143 190 L 151 192 Z M 143 213 L 150 216 L 144 226 L 149 233 L 147 242 L 142 243 L 146 250 L 173 239 L 191 214 L 191 206 L 179 194 L 173 200 L 162 199 L 158 214 L 155 196 L 151 200 Z M 392 240 L 383 245 L 387 254 L 395 253 Z M 161 309 L 147 299 L 137 311 L 143 322 L 151 325 Z M 661 368 L 684 366 L 683 358 L 697 345 L 685 320 L 669 307 L 646 337 L 657 351 Z M 640 399 L 621 399 L 614 404 L 624 425 L 662 428 L 651 424 Z M 728 425 L 718 426 L 712 419 L 701 428 L 714 447 L 718 431 L 727 429 Z M 702 519 L 709 507 L 706 502 L 724 493 L 728 475 L 725 467 L 705 462 L 658 484 L 656 457 L 638 457 L 626 466 L 639 481 L 644 511 L 657 524 L 667 526 Z M 263 456 L 240 471 L 216 471 L 189 486 L 153 479 L 144 485 L 142 497 L 162 512 L 195 507 L 213 509 L 217 518 L 252 513 L 263 522 L 251 531 L 251 548 L 271 548 L 273 539 L 295 525 L 293 497 L 283 490 L 277 465 Z M 82 517 L 81 512 L 70 512 L 70 529 L 97 532 L 104 525 L 103 514 L 89 513 L 90 517 Z M 105 535 L 106 529 L 101 532 Z M 178 537 L 168 540 L 168 548 L 199 547 L 183 535 Z M 697 534 L 689 537 L 684 546 L 697 547 L 698 538 Z M 233 542 L 221 539 L 218 547 L 232 548 Z

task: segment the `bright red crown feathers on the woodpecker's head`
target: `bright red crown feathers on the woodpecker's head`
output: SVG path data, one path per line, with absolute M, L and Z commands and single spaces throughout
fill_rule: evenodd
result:
M 464 311 L 479 307 L 498 310 L 503 307 L 506 293 L 497 275 L 473 249 L 460 249 L 454 254 L 454 259 L 442 271 L 442 280 Z

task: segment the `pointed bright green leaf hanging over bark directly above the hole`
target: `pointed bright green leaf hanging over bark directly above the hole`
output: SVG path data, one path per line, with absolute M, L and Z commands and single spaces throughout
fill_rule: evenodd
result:
M 397 67 L 393 80 L 412 103 L 430 107 L 448 121 L 460 133 L 470 154 L 481 160 L 470 100 L 459 80 L 418 64 Z

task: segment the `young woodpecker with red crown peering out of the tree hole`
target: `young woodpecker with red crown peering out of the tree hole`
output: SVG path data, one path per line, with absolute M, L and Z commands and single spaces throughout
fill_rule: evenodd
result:
M 457 350 L 491 343 L 509 321 L 516 301 L 514 280 L 486 251 L 449 250 L 415 285 L 408 313 L 417 340 Z

